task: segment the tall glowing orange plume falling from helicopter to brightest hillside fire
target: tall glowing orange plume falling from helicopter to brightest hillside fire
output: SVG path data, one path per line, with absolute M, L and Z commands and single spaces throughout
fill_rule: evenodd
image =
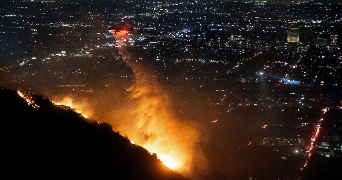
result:
M 200 159 L 202 164 L 206 164 L 205 158 L 198 149 L 195 149 L 196 141 L 199 139 L 195 125 L 172 118 L 174 116 L 171 100 L 168 93 L 159 85 L 154 71 L 146 68 L 137 58 L 131 57 L 127 46 L 120 44 L 120 41 L 117 43 L 123 61 L 132 69 L 135 77 L 130 88 L 130 99 L 136 104 L 131 112 L 139 115 L 128 117 L 129 119 L 125 119 L 118 129 L 133 140 L 134 144 L 156 153 L 170 169 L 188 176 L 192 171 L 195 156 L 196 160 Z

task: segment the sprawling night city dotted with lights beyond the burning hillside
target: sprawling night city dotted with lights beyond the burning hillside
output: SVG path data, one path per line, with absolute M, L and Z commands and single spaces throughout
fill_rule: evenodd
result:
M 5 0 L 0 86 L 71 99 L 123 134 L 120 118 L 185 123 L 190 179 L 324 179 L 341 167 L 341 37 L 338 1 Z M 134 115 L 140 79 L 168 115 Z

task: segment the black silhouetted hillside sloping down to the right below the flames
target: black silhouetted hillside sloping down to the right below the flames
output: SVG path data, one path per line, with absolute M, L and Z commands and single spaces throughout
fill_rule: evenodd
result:
M 114 132 L 107 123 L 82 118 L 34 96 L 29 106 L 17 92 L 0 88 L 1 162 L 10 178 L 186 179 Z

